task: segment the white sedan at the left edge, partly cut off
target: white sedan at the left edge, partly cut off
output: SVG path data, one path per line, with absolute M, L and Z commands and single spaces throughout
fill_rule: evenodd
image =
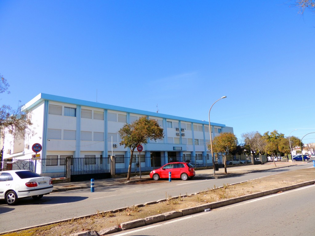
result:
M 50 177 L 26 170 L 0 171 L 0 199 L 8 205 L 16 204 L 19 198 L 40 199 L 52 191 Z

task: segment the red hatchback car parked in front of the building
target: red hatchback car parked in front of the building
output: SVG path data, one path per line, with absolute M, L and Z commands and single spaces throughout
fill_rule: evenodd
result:
M 192 164 L 186 162 L 172 162 L 151 171 L 150 178 L 154 180 L 168 178 L 169 172 L 171 172 L 172 178 L 181 178 L 182 180 L 187 180 L 195 176 L 195 170 Z

